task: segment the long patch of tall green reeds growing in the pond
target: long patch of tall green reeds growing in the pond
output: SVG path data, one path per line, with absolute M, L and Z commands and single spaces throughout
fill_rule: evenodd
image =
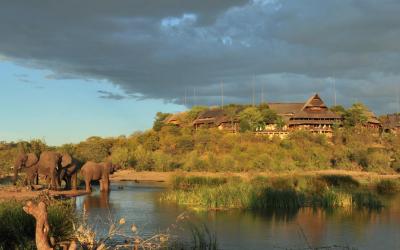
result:
M 266 178 L 250 181 L 238 178 L 180 176 L 183 189 L 175 185 L 163 194 L 172 201 L 195 209 L 248 209 L 257 211 L 296 210 L 301 207 L 377 209 L 383 206 L 378 195 L 362 187 L 349 176 Z M 194 183 L 186 185 L 186 183 Z M 204 184 L 202 184 L 204 183 Z M 190 188 L 188 188 L 190 187 Z

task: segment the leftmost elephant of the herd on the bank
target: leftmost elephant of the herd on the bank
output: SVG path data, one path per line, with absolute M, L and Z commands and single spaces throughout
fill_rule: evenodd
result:
M 35 184 L 35 179 L 38 175 L 37 162 L 38 157 L 34 153 L 21 153 L 17 156 L 14 163 L 14 185 L 17 184 L 18 172 L 24 171 L 26 173 L 25 184 L 33 185 Z

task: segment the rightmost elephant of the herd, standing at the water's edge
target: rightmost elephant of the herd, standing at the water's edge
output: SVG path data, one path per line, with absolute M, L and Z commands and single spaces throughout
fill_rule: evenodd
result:
M 100 181 L 100 191 L 108 192 L 110 186 L 110 174 L 117 170 L 117 166 L 111 162 L 96 163 L 86 162 L 81 169 L 81 175 L 85 179 L 86 192 L 91 192 L 91 181 Z

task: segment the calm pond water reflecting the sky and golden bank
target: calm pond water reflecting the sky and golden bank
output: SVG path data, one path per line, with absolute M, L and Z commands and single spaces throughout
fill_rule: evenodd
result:
M 148 237 L 174 228 L 176 218 L 187 211 L 189 220 L 205 224 L 214 232 L 221 249 L 304 249 L 348 246 L 356 249 L 400 249 L 400 197 L 380 211 L 358 209 L 301 209 L 292 213 L 242 211 L 193 212 L 159 201 L 164 187 L 156 184 L 116 182 L 111 192 L 76 198 L 77 211 L 84 214 L 100 236 L 110 219 L 135 224 Z M 178 225 L 180 234 L 185 227 Z M 182 228 L 182 229 L 180 229 Z M 337 248 L 339 249 L 339 248 Z

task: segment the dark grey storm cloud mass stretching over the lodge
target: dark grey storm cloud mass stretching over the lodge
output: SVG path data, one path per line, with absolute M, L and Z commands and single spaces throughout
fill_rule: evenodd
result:
M 106 79 L 124 95 L 188 104 L 364 101 L 394 111 L 395 0 L 1 1 L 0 54 L 52 78 Z M 195 93 L 193 93 L 195 92 Z M 114 96 L 115 95 L 115 96 Z

